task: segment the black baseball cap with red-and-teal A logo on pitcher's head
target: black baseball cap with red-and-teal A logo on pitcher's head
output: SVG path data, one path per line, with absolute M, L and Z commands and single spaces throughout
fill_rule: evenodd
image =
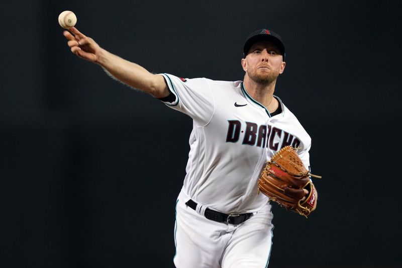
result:
M 243 57 L 245 58 L 250 50 L 251 46 L 257 42 L 268 41 L 274 43 L 280 50 L 283 56 L 283 61 L 285 61 L 285 45 L 282 42 L 282 38 L 277 33 L 272 32 L 268 29 L 261 29 L 255 31 L 247 37 L 246 42 L 243 46 Z

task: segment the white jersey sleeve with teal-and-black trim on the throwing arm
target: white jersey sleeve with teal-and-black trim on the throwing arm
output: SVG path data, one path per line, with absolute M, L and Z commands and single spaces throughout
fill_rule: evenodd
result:
M 211 120 L 215 102 L 210 84 L 206 78 L 183 79 L 163 73 L 171 94 L 175 96 L 173 102 L 162 102 L 168 107 L 180 111 L 191 117 L 198 126 L 205 126 Z

